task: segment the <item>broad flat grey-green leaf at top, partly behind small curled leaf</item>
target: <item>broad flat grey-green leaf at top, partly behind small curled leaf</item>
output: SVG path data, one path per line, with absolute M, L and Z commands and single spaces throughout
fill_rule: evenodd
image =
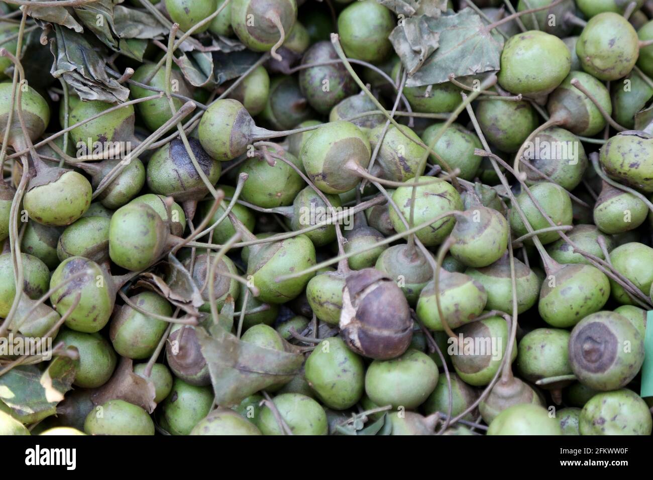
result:
M 439 33 L 438 49 L 426 59 L 422 67 L 410 76 L 407 87 L 441 84 L 449 75 L 466 76 L 498 71 L 503 49 L 503 38 L 490 33 L 483 20 L 471 8 L 439 18 L 424 17 L 428 29 Z M 419 63 L 419 54 L 413 51 L 396 27 L 390 35 L 392 46 L 407 69 Z

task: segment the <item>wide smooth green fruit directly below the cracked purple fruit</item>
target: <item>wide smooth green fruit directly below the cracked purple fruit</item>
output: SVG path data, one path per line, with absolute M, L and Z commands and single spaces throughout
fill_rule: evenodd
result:
M 409 349 L 392 360 L 374 360 L 365 374 L 365 392 L 377 405 L 414 409 L 438 384 L 438 367 L 426 353 Z

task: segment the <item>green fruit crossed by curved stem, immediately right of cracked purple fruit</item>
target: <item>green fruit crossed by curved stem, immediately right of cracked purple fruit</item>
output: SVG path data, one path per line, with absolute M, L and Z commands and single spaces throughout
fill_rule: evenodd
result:
M 439 291 L 440 308 L 451 328 L 465 325 L 481 315 L 488 298 L 481 283 L 457 272 L 440 275 Z M 438 313 L 434 280 L 426 283 L 419 295 L 415 313 L 427 328 L 445 329 Z

